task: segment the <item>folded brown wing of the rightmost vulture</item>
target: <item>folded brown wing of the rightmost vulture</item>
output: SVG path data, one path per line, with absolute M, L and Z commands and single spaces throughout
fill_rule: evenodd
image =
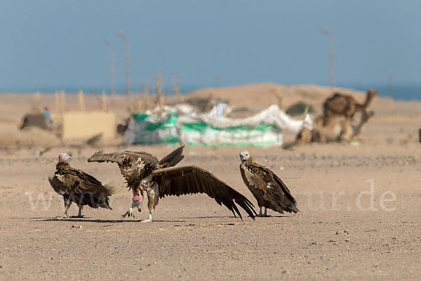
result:
M 290 190 L 285 183 L 274 174 L 269 168 L 261 166 L 257 163 L 247 165 L 248 171 L 254 176 L 265 182 L 265 185 L 259 185 L 263 192 L 263 199 L 269 202 L 269 209 L 283 213 L 283 211 L 297 213 L 300 211 L 297 207 L 297 201 L 291 195 Z M 241 171 L 243 173 L 243 171 Z M 244 176 L 243 176 L 244 178 Z M 268 187 L 270 186 L 270 188 Z

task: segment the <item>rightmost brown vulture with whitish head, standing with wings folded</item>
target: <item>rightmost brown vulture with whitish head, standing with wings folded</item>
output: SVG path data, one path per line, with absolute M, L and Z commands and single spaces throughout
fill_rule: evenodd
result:
M 240 171 L 244 183 L 253 193 L 260 208 L 258 216 L 267 216 L 267 208 L 283 214 L 283 211 L 297 213 L 297 202 L 285 183 L 265 166 L 253 162 L 247 151 L 240 153 Z M 262 214 L 265 207 L 265 214 Z

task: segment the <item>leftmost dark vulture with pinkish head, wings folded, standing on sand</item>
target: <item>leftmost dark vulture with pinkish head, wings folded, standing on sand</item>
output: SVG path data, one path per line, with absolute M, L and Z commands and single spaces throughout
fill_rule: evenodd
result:
M 79 207 L 76 218 L 83 218 L 82 208 L 85 205 L 95 209 L 101 207 L 111 210 L 108 197 L 112 192 L 93 176 L 72 168 L 69 159 L 72 159 L 72 155 L 65 153 L 58 155 L 54 176 L 48 177 L 53 190 L 62 195 L 65 201 L 65 214 L 61 217 L 67 217 L 67 210 L 72 202 Z

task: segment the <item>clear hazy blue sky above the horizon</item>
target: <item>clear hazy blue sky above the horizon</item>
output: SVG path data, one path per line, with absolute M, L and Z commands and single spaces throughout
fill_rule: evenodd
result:
M 0 90 L 109 89 L 109 38 L 124 85 L 182 74 L 185 86 L 272 81 L 421 83 L 421 1 L 0 1 Z M 215 78 L 216 77 L 216 78 Z

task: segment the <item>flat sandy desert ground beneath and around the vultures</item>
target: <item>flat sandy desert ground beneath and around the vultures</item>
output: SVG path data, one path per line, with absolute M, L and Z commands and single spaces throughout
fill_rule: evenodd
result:
M 0 98 L 3 108 L 20 105 Z M 241 150 L 283 178 L 300 213 L 269 211 L 255 221 L 245 212 L 243 221 L 234 218 L 206 195 L 164 198 L 154 223 L 139 222 L 146 204 L 135 219 L 121 219 L 131 192 L 115 164 L 86 162 L 95 148 L 58 144 L 36 157 L 32 150 L 42 143 L 4 147 L 0 280 L 420 280 L 419 109 L 375 100 L 360 145 L 186 148 L 180 164 L 208 169 L 252 202 L 239 173 Z M 10 116 L 0 116 L 0 133 L 18 123 Z M 163 157 L 173 147 L 102 148 L 124 149 Z M 60 152 L 116 186 L 113 211 L 86 208 L 86 218 L 53 219 L 64 208 L 47 178 Z M 75 205 L 69 214 L 77 214 Z

